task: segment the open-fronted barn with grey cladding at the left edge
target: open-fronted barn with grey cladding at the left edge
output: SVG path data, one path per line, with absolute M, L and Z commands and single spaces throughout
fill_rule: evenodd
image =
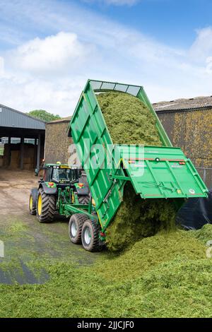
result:
M 45 122 L 0 105 L 0 167 L 33 170 L 44 155 Z

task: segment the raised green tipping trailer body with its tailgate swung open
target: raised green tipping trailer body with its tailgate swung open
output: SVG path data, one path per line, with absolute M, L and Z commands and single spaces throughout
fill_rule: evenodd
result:
M 97 93 L 106 91 L 129 93 L 142 100 L 155 117 L 163 146 L 114 145 L 96 97 Z M 178 208 L 186 198 L 207 197 L 208 189 L 192 161 L 180 148 L 172 147 L 142 86 L 88 80 L 71 119 L 69 136 L 76 144 L 78 158 L 95 202 L 96 215 L 87 213 L 87 217 L 90 223 L 97 224 L 98 236 L 102 240 L 122 204 L 124 186 L 128 181 L 142 199 L 172 198 Z M 98 149 L 107 160 L 104 167 L 96 167 L 98 157 L 95 158 L 95 146 L 102 147 Z M 73 206 L 67 208 L 69 213 L 81 212 L 73 211 Z

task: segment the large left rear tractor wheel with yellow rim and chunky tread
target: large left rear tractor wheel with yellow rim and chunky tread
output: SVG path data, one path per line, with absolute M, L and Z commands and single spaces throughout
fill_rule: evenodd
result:
M 55 196 L 45 194 L 39 189 L 37 195 L 37 219 L 40 223 L 51 223 L 55 213 Z

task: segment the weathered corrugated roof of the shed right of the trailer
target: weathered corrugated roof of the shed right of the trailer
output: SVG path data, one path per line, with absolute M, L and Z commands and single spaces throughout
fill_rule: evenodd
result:
M 178 111 L 189 109 L 212 109 L 212 96 L 194 97 L 189 99 L 170 100 L 169 102 L 156 102 L 153 104 L 156 112 L 161 111 Z

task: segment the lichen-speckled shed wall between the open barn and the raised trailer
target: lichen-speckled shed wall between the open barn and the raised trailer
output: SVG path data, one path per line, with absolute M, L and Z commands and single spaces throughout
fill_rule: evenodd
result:
M 72 139 L 68 137 L 67 129 L 71 117 L 50 121 L 46 124 L 45 162 L 68 163 Z

